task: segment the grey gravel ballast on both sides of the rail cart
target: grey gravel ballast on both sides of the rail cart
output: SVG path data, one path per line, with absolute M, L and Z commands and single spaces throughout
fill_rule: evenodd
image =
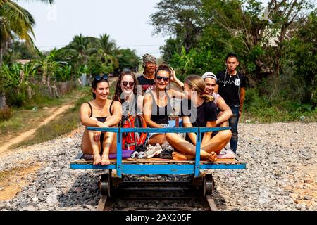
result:
M 210 171 L 218 208 L 316 211 L 317 123 L 239 124 L 238 129 L 237 154 L 247 169 Z M 103 172 L 69 169 L 80 152 L 82 130 L 0 158 L 0 172 L 39 167 L 23 176 L 26 184 L 14 198 L 0 200 L 0 210 L 96 210 Z M 2 185 L 0 194 L 11 184 Z

